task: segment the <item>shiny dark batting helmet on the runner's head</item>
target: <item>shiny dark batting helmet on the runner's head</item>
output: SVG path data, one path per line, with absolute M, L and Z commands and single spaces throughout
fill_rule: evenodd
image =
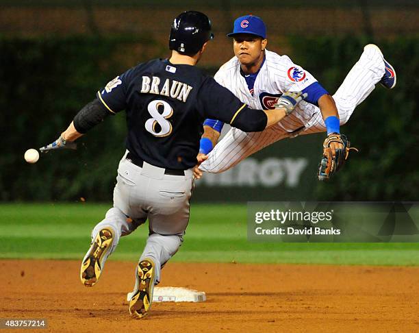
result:
M 173 21 L 170 30 L 169 49 L 186 55 L 197 53 L 202 45 L 214 38 L 211 21 L 201 12 L 183 12 Z

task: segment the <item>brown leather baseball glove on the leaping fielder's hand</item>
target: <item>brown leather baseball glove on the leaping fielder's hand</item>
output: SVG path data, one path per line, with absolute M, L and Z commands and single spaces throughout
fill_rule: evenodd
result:
M 343 148 L 333 148 L 331 143 L 340 144 Z M 351 150 L 358 151 L 358 149 L 351 147 L 351 142 L 344 134 L 329 134 L 323 143 L 323 156 L 318 168 L 318 179 L 329 180 L 335 172 L 342 168 Z

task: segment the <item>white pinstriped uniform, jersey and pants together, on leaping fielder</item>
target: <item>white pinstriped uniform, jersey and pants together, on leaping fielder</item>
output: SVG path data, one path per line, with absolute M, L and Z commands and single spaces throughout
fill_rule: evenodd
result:
M 278 56 L 276 53 L 266 51 L 266 60 L 256 77 L 253 95 L 249 92 L 244 77 L 240 75 L 240 64 L 236 58 L 224 64 L 215 78 L 219 84 L 231 90 L 244 103 L 248 103 L 253 108 L 261 108 L 260 95 L 263 97 L 266 96 L 265 93 L 280 94 L 287 89 L 303 90 L 305 86 L 316 81 L 312 75 L 298 66 L 296 66 L 298 67 L 296 73 L 294 70 L 290 71 L 294 66 L 296 65 L 287 56 Z M 288 73 L 291 77 L 288 77 Z M 333 95 L 339 112 L 340 125 L 348 121 L 356 106 L 370 95 L 384 73 L 385 66 L 381 51 L 378 47 L 365 47 L 361 57 Z M 307 81 L 304 74 L 308 78 Z M 269 97 L 266 99 L 263 104 L 272 106 L 273 99 Z M 313 116 L 312 119 L 310 115 Z M 297 132 L 299 135 L 326 130 L 320 109 L 305 101 L 301 101 L 292 114 L 263 132 L 245 133 L 231 128 L 208 154 L 208 159 L 201 164 L 199 169 L 210 173 L 226 171 L 256 151 L 283 138 L 294 136 L 294 133 L 290 134 L 290 132 L 303 125 L 305 128 L 302 132 Z

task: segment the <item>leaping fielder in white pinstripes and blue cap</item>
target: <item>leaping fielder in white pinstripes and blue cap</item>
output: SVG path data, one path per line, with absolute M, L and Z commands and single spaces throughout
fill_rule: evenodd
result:
M 358 62 L 332 97 L 311 73 L 294 64 L 288 56 L 266 49 L 266 27 L 261 18 L 251 15 L 237 18 L 233 32 L 227 36 L 233 38 L 235 57 L 220 67 L 214 79 L 242 102 L 252 108 L 269 109 L 285 91 L 301 90 L 308 97 L 290 116 L 263 132 L 245 133 L 232 128 L 218 144 L 223 123 L 205 120 L 199 158 L 208 155 L 199 169 L 194 169 L 196 178 L 201 177 L 202 171 L 226 171 L 256 151 L 299 134 L 326 131 L 325 152 L 329 149 L 335 156 L 335 152 L 348 148 L 342 140 L 345 137 L 340 134 L 340 125 L 348 121 L 356 106 L 370 95 L 377 83 L 386 88 L 396 85 L 396 73 L 376 45 L 364 47 Z M 318 177 L 327 179 L 329 173 L 320 168 Z

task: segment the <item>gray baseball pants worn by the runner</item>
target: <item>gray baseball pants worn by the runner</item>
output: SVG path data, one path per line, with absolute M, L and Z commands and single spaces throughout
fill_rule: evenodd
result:
M 116 249 L 121 236 L 134 232 L 149 219 L 149 238 L 140 260 L 155 262 L 155 283 L 160 282 L 161 269 L 177 252 L 189 221 L 192 194 L 192 169 L 185 175 L 166 175 L 165 169 L 144 162 L 142 167 L 125 156 L 120 160 L 114 188 L 114 207 L 92 231 L 110 227 L 114 242 L 108 256 Z

